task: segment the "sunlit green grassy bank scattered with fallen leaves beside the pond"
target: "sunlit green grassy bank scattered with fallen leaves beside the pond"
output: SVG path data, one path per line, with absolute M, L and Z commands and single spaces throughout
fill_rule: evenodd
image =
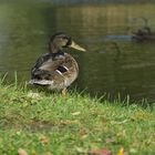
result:
M 154 108 L 0 85 L 1 155 L 116 155 L 121 147 L 155 154 Z

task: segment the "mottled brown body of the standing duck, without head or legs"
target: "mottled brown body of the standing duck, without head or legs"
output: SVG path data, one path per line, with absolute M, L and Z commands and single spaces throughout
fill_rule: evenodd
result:
M 70 85 L 78 76 L 79 68 L 76 61 L 68 53 L 64 55 L 41 56 L 32 68 L 31 84 L 53 85 L 64 87 Z

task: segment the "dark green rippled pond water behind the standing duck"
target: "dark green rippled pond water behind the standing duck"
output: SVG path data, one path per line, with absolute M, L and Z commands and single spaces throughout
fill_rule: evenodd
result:
M 155 42 L 137 43 L 131 32 L 155 30 L 155 6 L 106 4 L 54 7 L 43 1 L 0 1 L 0 72 L 13 80 L 30 79 L 35 59 L 48 51 L 51 34 L 68 32 L 86 53 L 70 52 L 79 62 L 80 75 L 72 87 L 92 95 L 133 101 L 155 99 Z

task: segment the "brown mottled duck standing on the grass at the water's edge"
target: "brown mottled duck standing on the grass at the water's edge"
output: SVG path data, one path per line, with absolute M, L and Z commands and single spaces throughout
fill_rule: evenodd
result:
M 31 69 L 31 80 L 29 84 L 45 85 L 50 90 L 66 93 L 79 75 L 79 65 L 75 59 L 65 52 L 72 48 L 85 52 L 86 50 L 75 43 L 72 38 L 64 32 L 56 32 L 50 38 L 49 52 L 41 55 Z

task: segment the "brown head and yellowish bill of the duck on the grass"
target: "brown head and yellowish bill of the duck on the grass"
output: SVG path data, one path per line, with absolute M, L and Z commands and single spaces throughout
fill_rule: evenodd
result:
M 71 37 L 65 34 L 64 32 L 58 32 L 50 39 L 49 49 L 50 52 L 56 53 L 58 51 L 62 50 L 63 48 L 73 48 L 80 51 L 86 51 L 79 44 L 76 44 Z

